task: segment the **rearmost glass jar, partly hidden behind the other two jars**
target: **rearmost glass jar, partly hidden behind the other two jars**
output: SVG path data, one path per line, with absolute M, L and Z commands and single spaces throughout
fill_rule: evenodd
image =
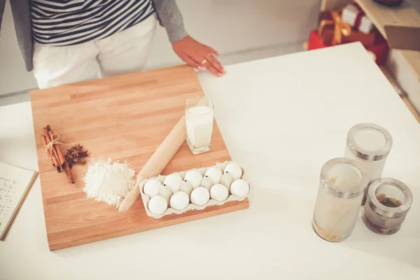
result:
M 347 134 L 344 158 L 360 163 L 367 173 L 367 186 L 369 186 L 374 180 L 381 178 L 391 147 L 391 134 L 384 127 L 373 123 L 360 123 L 351 127 Z M 366 192 L 363 195 L 362 205 L 366 202 Z

